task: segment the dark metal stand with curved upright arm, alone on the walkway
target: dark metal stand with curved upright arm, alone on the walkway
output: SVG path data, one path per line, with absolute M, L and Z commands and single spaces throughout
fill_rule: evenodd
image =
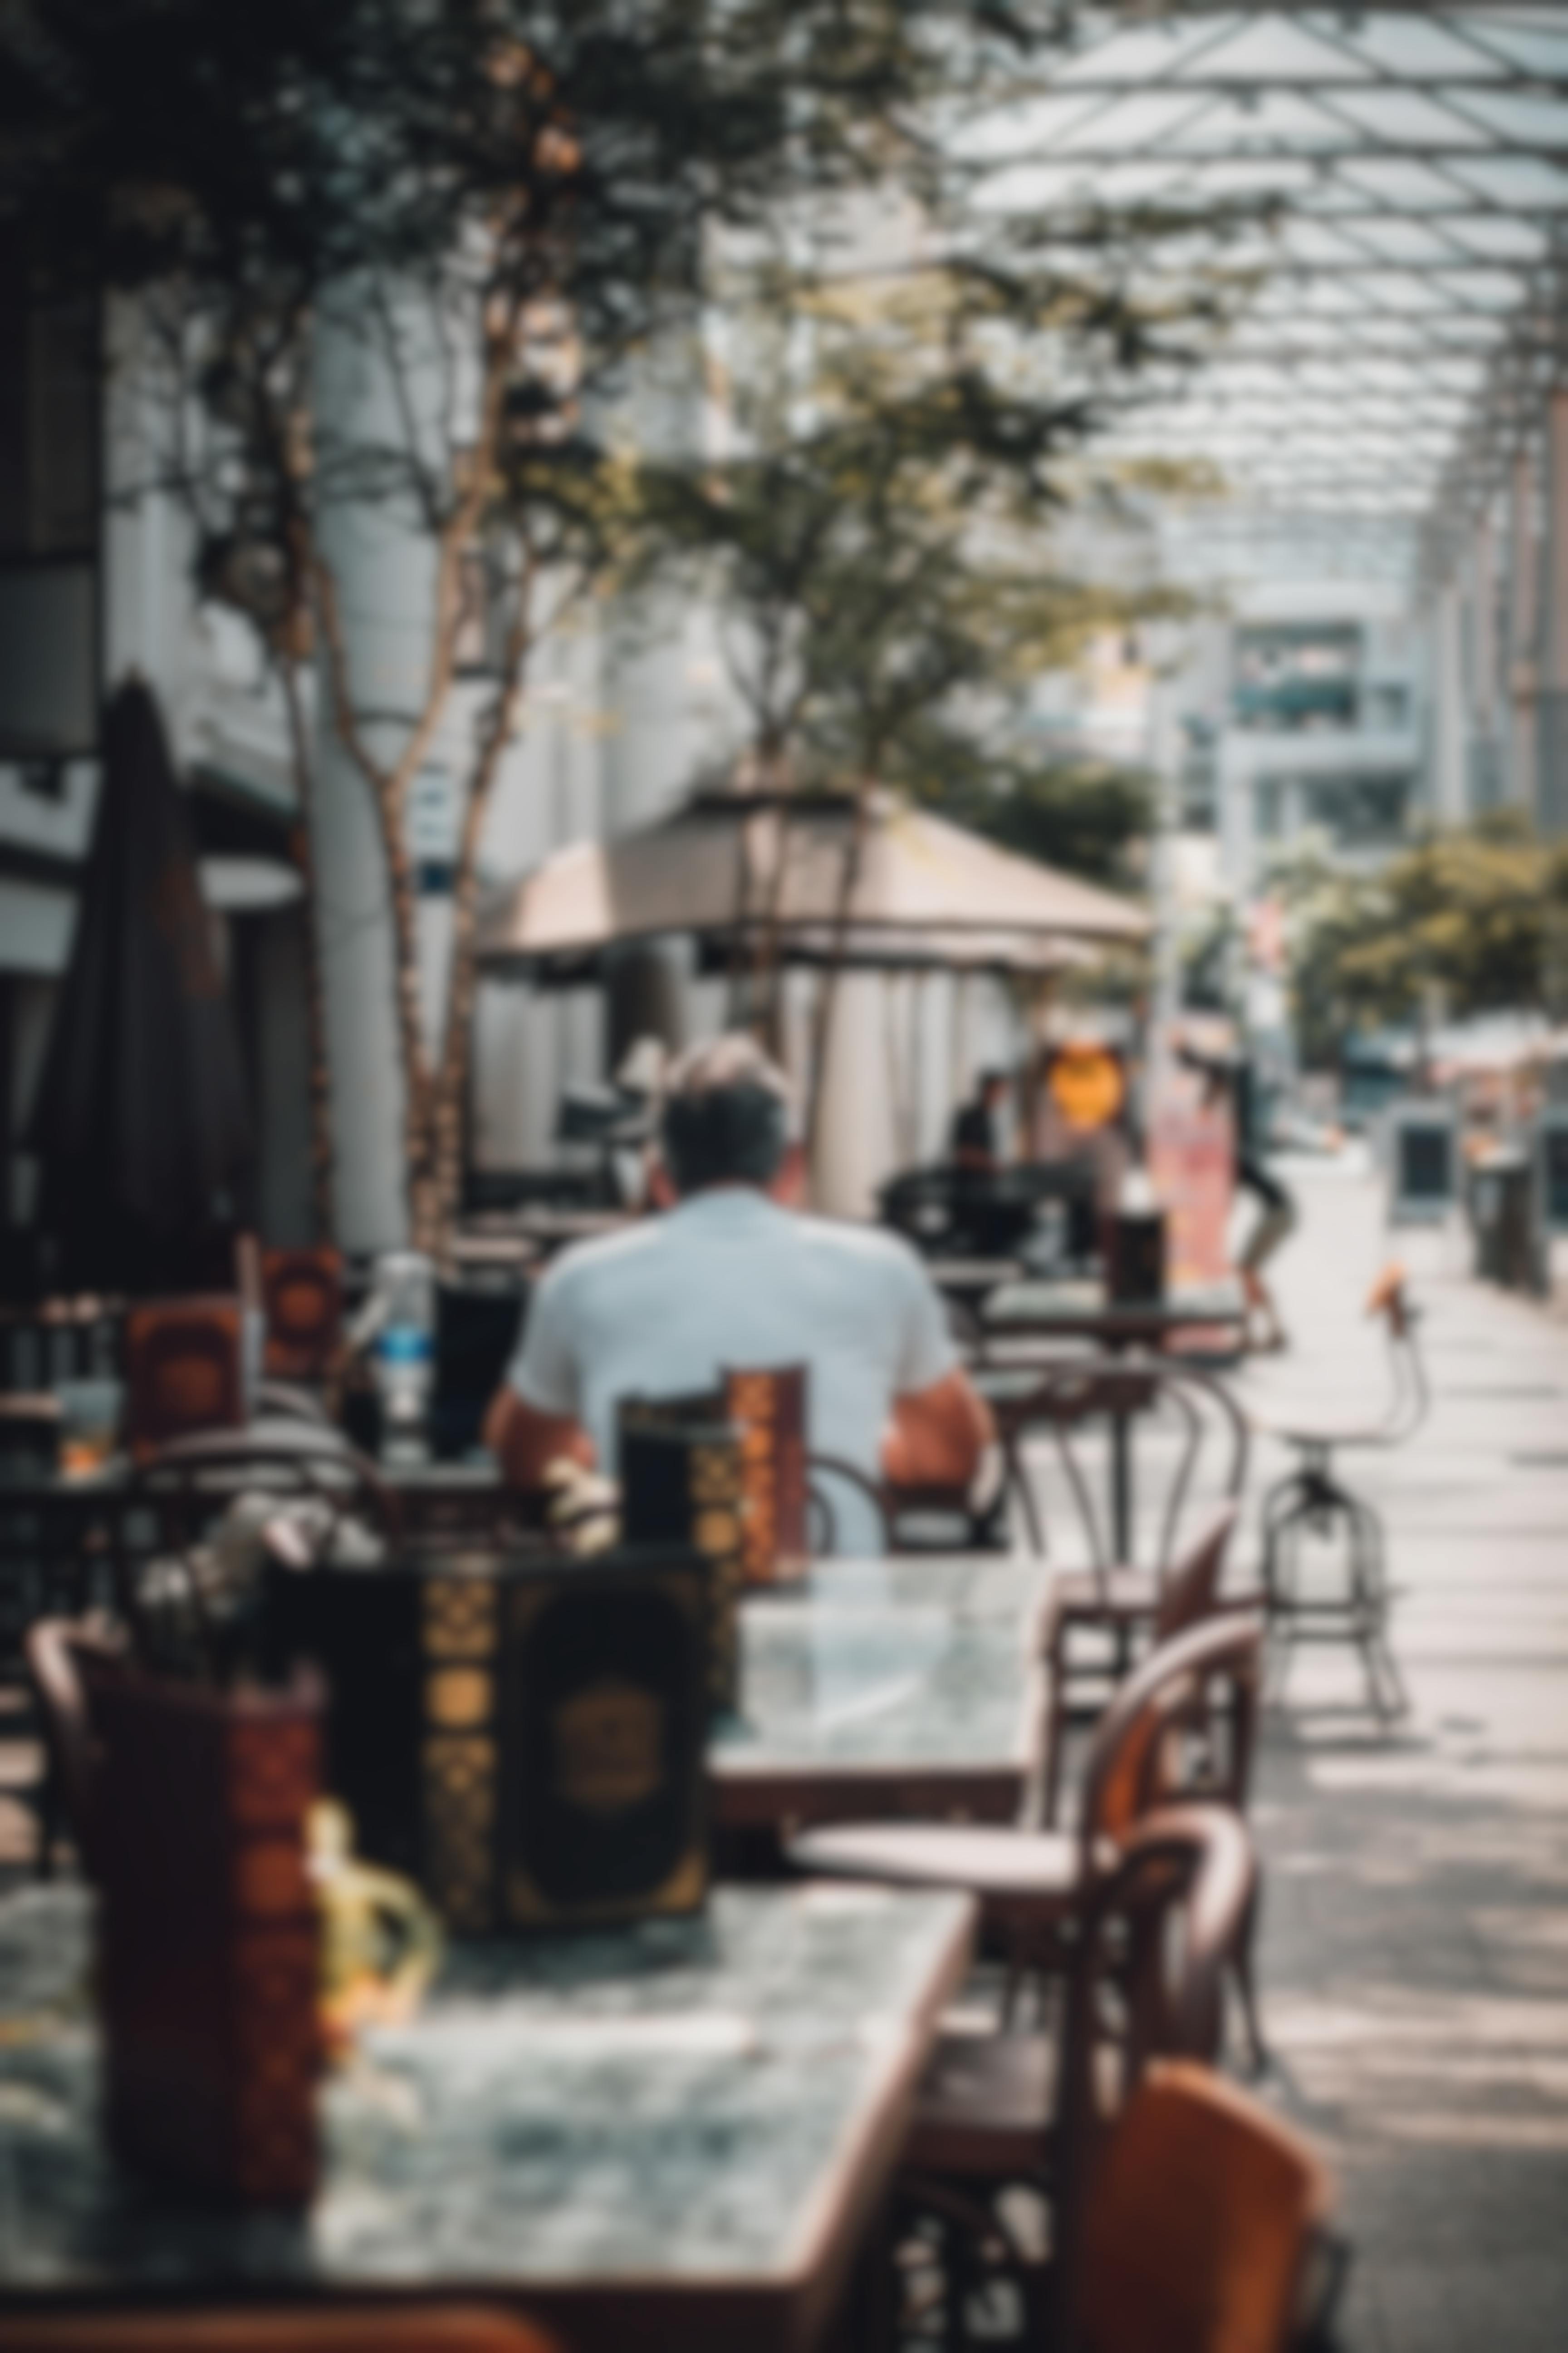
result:
M 1262 1584 L 1269 1631 L 1281 1638 L 1286 1659 L 1295 1642 L 1352 1642 L 1373 1708 L 1380 1718 L 1408 1708 L 1399 1661 L 1389 1645 L 1389 1591 L 1385 1574 L 1382 1520 L 1335 1471 L 1335 1457 L 1347 1452 L 1387 1452 L 1415 1435 L 1427 1419 L 1432 1391 L 1415 1337 L 1418 1311 L 1410 1306 L 1403 1271 L 1387 1266 L 1373 1285 L 1366 1313 L 1387 1329 L 1392 1391 L 1378 1421 L 1295 1421 L 1253 1414 L 1253 1428 L 1279 1438 L 1295 1454 L 1288 1471 L 1262 1499 Z M 1300 1591 L 1302 1537 L 1345 1544 L 1345 1591 L 1307 1600 Z

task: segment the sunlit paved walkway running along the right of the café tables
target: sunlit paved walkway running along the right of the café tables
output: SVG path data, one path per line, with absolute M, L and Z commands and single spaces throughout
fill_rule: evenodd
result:
M 1349 1652 L 1300 1652 L 1258 1786 L 1265 2026 L 1342 2184 L 1347 2353 L 1568 2348 L 1568 1327 L 1387 1235 L 1354 1162 L 1298 1162 L 1279 1264 L 1293 1348 L 1244 1393 L 1331 1419 L 1387 1395 L 1366 1289 L 1410 1275 L 1434 1386 L 1382 1508 L 1410 1715 Z M 1253 1506 L 1274 1473 L 1262 1447 Z M 1255 1558 L 1255 1511 L 1244 1562 Z

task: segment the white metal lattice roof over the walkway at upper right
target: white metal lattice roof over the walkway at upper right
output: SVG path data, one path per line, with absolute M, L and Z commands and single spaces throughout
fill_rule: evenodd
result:
M 1150 292 L 1248 289 L 1110 435 L 1220 471 L 1211 569 L 1441 569 L 1568 372 L 1568 5 L 1100 9 L 964 144 L 1004 209 L 1190 219 Z

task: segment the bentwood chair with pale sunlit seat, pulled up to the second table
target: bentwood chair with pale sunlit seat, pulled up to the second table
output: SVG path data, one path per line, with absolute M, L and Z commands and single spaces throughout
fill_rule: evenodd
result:
M 1244 1809 L 1260 1680 L 1262 1631 L 1244 1617 L 1211 1619 L 1152 1652 L 1095 1727 L 1074 1833 L 835 1824 L 792 1838 L 790 1861 L 827 1878 L 959 1887 L 1020 1972 L 1060 1974 L 1063 1932 L 1147 1812 L 1187 1798 Z M 1246 1955 L 1234 1958 L 1246 1991 Z

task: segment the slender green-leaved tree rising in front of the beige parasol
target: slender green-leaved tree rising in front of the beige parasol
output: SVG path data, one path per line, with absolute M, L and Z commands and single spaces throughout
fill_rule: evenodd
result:
M 1063 576 L 1048 539 L 1070 461 L 1178 334 L 1107 285 L 1119 240 L 1145 231 L 1098 221 L 1041 254 L 1025 228 L 997 233 L 983 268 L 936 240 L 896 268 L 766 280 L 766 322 L 731 339 L 724 447 L 637 468 L 632 567 L 684 576 L 724 616 L 757 784 L 835 781 L 863 807 L 875 786 L 907 791 L 1098 873 L 1126 847 L 1138 781 L 1039 758 L 1025 701 L 1095 631 L 1182 602 Z M 766 1028 L 766 929 L 755 979 Z M 832 995 L 830 974 L 818 1071 Z

